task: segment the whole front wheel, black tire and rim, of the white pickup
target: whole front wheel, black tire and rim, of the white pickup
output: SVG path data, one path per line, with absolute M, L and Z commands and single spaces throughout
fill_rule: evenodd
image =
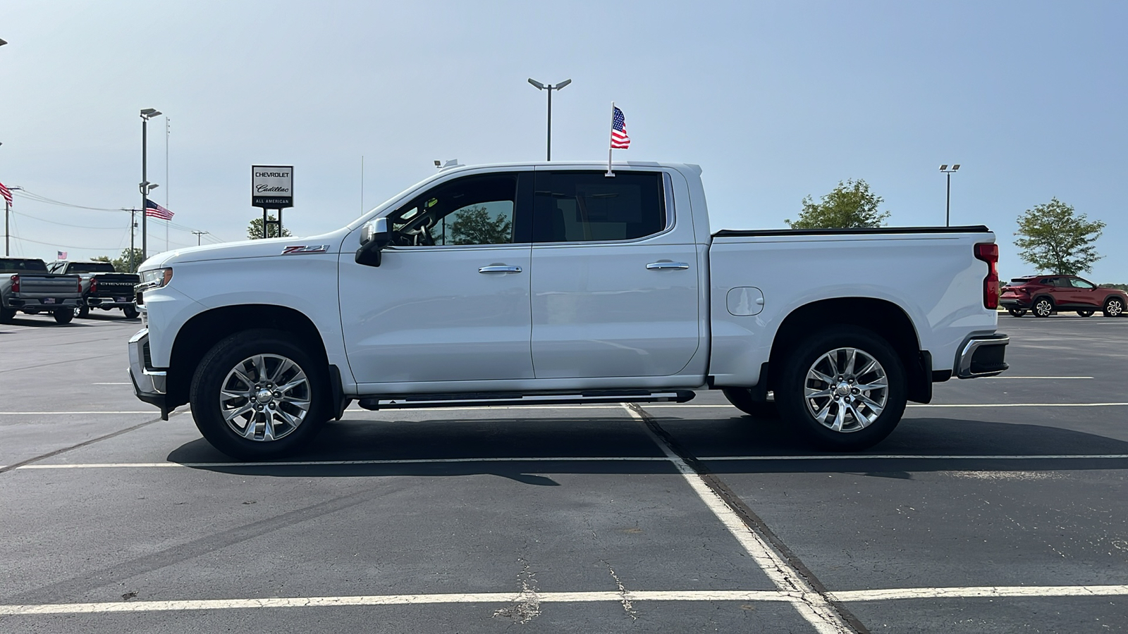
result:
M 328 372 L 281 331 L 236 333 L 204 355 L 190 402 L 200 433 L 239 459 L 303 449 L 328 419 Z

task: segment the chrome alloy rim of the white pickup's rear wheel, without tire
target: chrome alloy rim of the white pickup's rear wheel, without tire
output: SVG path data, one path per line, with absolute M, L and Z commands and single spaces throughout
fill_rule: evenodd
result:
M 803 382 L 807 411 L 831 431 L 849 433 L 870 426 L 888 400 L 885 369 L 856 347 L 839 347 L 819 356 Z

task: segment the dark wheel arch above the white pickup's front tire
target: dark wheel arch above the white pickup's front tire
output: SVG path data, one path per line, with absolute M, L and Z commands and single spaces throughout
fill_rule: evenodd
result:
M 328 366 L 325 341 L 314 322 L 285 306 L 247 303 L 205 310 L 176 333 L 168 368 L 168 407 L 188 402 L 192 377 L 204 354 L 221 340 L 241 331 L 273 328 L 294 335 L 317 362 Z

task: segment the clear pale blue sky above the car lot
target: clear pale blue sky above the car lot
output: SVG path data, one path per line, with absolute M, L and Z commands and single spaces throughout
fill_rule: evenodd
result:
M 1090 275 L 1128 282 L 1128 2 L 113 2 L 7 0 L 0 182 L 96 208 L 153 197 L 179 226 L 241 239 L 250 165 L 294 166 L 298 235 L 334 229 L 434 159 L 697 162 L 714 229 L 783 227 L 803 196 L 864 178 L 891 224 L 998 235 L 1057 196 L 1108 222 Z M 127 214 L 17 197 L 15 253 L 116 256 Z M 52 224 L 47 221 L 61 224 Z M 164 249 L 159 222 L 151 249 Z M 36 241 L 29 241 L 36 240 Z M 174 229 L 170 246 L 195 244 Z M 39 244 L 44 243 L 44 244 Z

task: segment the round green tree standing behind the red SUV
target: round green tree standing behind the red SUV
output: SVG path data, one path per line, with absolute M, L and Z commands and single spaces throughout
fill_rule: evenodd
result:
M 1096 255 L 1093 243 L 1101 237 L 1104 222 L 1090 221 L 1077 214 L 1073 205 L 1056 197 L 1034 205 L 1019 217 L 1019 236 L 1015 246 L 1022 249 L 1019 257 L 1039 271 L 1058 275 L 1077 275 L 1089 271 L 1102 256 Z

